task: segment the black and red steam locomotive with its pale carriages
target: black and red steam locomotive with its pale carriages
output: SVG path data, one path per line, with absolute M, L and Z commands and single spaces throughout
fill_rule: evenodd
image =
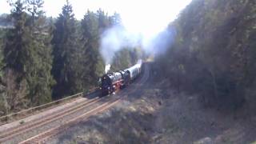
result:
M 128 86 L 130 82 L 133 82 L 135 78 L 138 78 L 138 75 L 141 74 L 141 72 L 142 62 L 140 61 L 126 70 L 104 74 L 102 78 L 100 78 L 100 90 L 102 90 L 102 96 L 112 94 L 114 91 Z

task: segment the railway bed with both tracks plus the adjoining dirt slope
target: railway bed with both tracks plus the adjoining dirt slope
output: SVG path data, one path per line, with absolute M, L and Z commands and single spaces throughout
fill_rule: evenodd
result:
M 13 130 L 6 127 L 8 134 L 0 133 L 0 138 L 5 143 L 255 141 L 254 115 L 244 117 L 241 112 L 225 114 L 205 108 L 198 95 L 178 93 L 171 89 L 173 85 L 161 77 L 154 62 L 149 62 L 141 77 L 126 89 L 103 98 L 80 98 L 41 119 L 19 123 Z

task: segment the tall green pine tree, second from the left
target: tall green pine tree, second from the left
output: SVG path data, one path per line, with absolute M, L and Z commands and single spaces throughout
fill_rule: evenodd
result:
M 51 100 L 51 86 L 54 79 L 50 74 L 52 68 L 51 27 L 46 23 L 42 10 L 43 0 L 28 0 L 30 12 L 30 36 L 33 38 L 34 70 L 26 73 L 30 87 L 30 100 L 38 105 Z

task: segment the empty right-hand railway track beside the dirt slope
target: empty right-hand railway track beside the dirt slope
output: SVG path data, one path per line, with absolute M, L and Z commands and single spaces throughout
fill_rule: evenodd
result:
M 110 102 L 105 102 L 100 106 L 97 106 L 93 110 L 90 110 L 86 112 L 85 114 L 80 115 L 77 118 L 73 118 L 70 121 L 64 123 L 61 126 L 56 126 L 50 130 L 47 130 L 46 132 L 42 134 L 38 134 L 32 138 L 29 138 L 23 142 L 20 142 L 20 144 L 29 144 L 29 143 L 43 143 L 45 142 L 48 138 L 53 137 L 54 135 L 62 132 L 63 130 L 66 130 L 69 126 L 74 125 L 77 122 L 80 122 L 83 119 L 89 118 L 91 115 L 98 114 L 106 109 L 109 109 L 111 106 L 114 106 L 118 101 L 120 101 L 120 98 L 116 98 L 114 100 L 111 100 Z

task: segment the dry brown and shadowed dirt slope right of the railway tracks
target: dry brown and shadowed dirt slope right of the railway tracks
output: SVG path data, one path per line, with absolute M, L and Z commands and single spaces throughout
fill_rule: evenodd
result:
M 114 96 L 122 102 L 47 143 L 255 143 L 256 116 L 203 108 L 178 94 L 148 64 L 142 78 Z M 154 65 L 154 64 L 153 64 Z

